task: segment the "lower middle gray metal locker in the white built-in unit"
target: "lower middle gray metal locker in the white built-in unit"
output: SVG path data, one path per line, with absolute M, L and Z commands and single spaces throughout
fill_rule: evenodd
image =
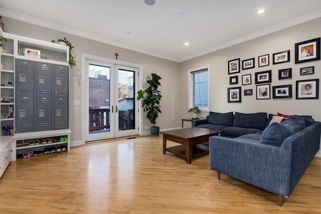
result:
M 52 98 L 37 97 L 36 131 L 52 130 Z

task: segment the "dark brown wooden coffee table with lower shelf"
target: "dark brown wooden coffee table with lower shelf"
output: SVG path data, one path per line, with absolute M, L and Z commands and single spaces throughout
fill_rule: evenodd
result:
M 187 163 L 192 163 L 192 157 L 197 157 L 209 152 L 209 145 L 204 144 L 211 136 L 220 136 L 223 131 L 208 128 L 185 128 L 172 131 L 162 131 L 163 153 L 166 151 L 186 158 Z M 166 141 L 170 140 L 182 145 L 166 148 Z

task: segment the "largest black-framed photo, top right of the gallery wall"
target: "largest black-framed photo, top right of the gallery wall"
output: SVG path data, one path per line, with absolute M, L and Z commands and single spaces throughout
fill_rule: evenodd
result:
M 295 64 L 320 60 L 320 37 L 295 43 Z

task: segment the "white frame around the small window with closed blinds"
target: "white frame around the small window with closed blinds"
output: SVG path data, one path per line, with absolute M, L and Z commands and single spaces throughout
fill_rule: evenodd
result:
M 194 83 L 193 83 L 193 73 L 197 72 L 197 71 L 201 71 L 201 70 L 206 70 L 207 69 L 207 108 L 200 108 L 202 112 L 209 112 L 210 111 L 210 66 L 203 66 L 203 67 L 199 67 L 199 68 L 194 68 L 194 69 L 190 69 L 188 70 L 188 90 L 189 90 L 189 94 L 188 94 L 188 102 L 189 102 L 189 106 L 188 109 L 193 107 L 193 103 L 194 103 Z

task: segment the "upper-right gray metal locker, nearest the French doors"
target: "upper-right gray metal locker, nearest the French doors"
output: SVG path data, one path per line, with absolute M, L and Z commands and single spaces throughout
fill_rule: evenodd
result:
M 55 97 L 69 96 L 69 67 L 62 65 L 55 65 L 54 68 L 54 92 Z

